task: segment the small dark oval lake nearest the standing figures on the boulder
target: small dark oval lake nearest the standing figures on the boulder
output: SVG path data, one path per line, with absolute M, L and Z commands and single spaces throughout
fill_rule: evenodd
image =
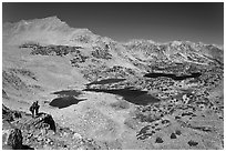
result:
M 59 108 L 59 109 L 63 109 L 63 108 L 72 105 L 72 104 L 76 104 L 80 101 L 83 101 L 83 99 L 79 100 L 74 97 L 55 98 L 50 102 L 50 105 Z

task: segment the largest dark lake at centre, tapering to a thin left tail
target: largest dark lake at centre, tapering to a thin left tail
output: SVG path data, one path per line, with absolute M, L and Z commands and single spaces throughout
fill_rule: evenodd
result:
M 160 99 L 147 94 L 147 91 L 131 90 L 131 89 L 117 89 L 117 90 L 99 90 L 99 89 L 85 89 L 83 91 L 105 92 L 123 97 L 124 100 L 137 104 L 147 105 L 150 103 L 160 102 Z

